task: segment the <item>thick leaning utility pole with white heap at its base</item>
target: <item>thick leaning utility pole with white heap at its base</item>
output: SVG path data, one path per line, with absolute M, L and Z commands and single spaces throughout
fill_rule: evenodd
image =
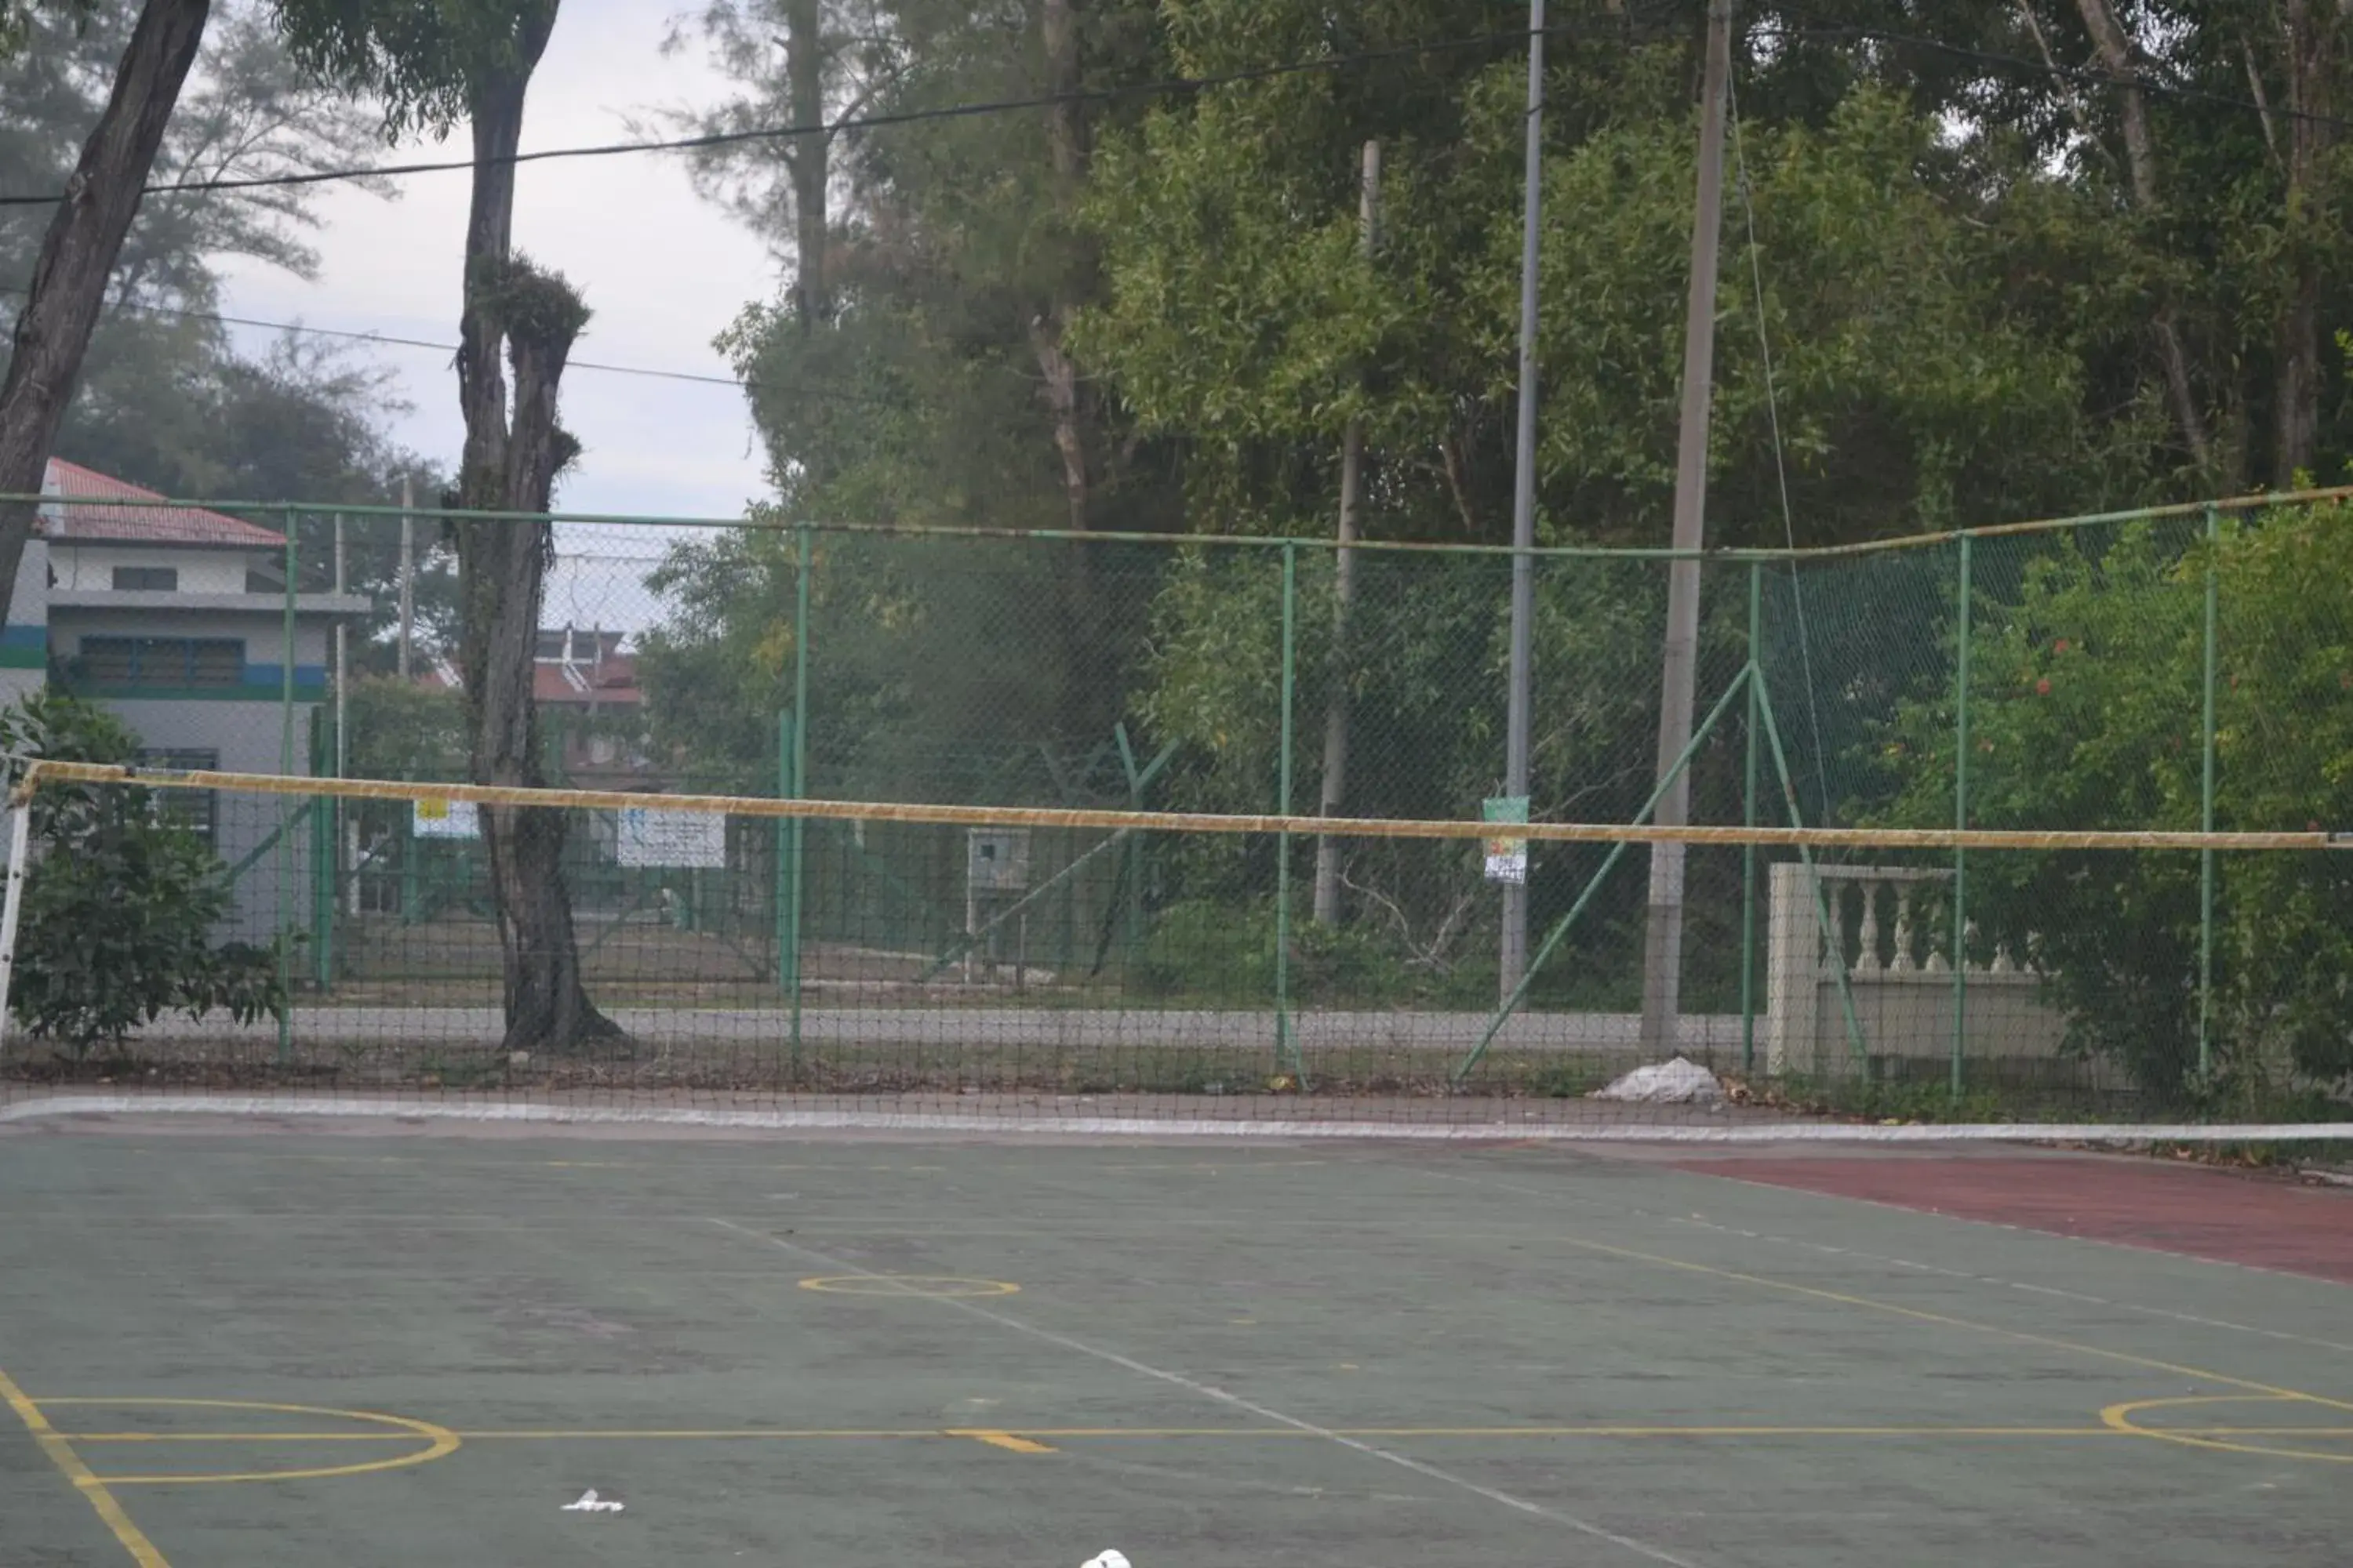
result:
M 1659 780 L 1692 743 L 1699 665 L 1699 555 L 1708 515 L 1708 402 L 1715 390 L 1715 252 L 1725 212 L 1725 85 L 1732 78 L 1732 0 L 1708 0 L 1708 66 L 1699 101 L 1699 197 L 1692 212 L 1692 296 L 1682 317 L 1682 428 L 1675 435 L 1675 550 L 1666 569 L 1666 654 L 1659 672 Z M 1652 820 L 1682 827 L 1692 776 L 1678 773 Z M 1675 1048 L 1682 1004 L 1682 844 L 1649 851 L 1642 940 L 1642 1053 Z

